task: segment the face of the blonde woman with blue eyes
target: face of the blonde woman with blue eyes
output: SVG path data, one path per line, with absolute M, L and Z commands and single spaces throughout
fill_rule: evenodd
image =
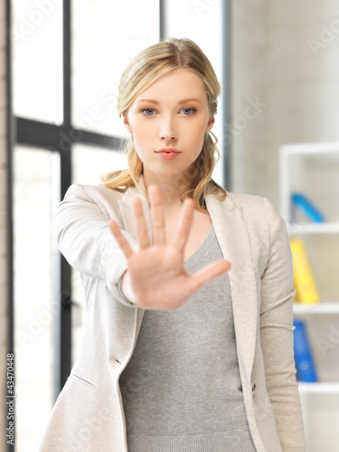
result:
M 124 118 L 144 164 L 146 186 L 168 176 L 189 174 L 202 151 L 203 137 L 214 123 L 202 80 L 178 69 L 165 74 L 137 96 Z M 159 154 L 174 148 L 179 154 Z M 188 171 L 187 171 L 188 170 Z M 177 181 L 183 182 L 182 178 Z M 175 184 L 175 181 L 173 181 Z

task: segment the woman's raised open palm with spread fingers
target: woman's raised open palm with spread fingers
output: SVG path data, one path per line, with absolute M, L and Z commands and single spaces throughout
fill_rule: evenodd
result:
M 218 260 L 189 275 L 184 270 L 184 247 L 193 220 L 194 202 L 186 198 L 178 227 L 171 243 L 165 240 L 165 217 L 160 189 L 148 187 L 151 210 L 153 244 L 150 243 L 141 200 L 133 200 L 137 222 L 137 240 L 140 249 L 131 249 L 117 223 L 109 221 L 109 227 L 123 250 L 128 269 L 123 276 L 122 289 L 138 307 L 172 311 L 183 306 L 189 297 L 213 278 L 231 268 L 228 260 Z

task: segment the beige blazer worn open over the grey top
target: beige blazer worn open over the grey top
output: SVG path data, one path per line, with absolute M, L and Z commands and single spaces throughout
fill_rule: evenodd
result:
M 145 187 L 142 179 L 141 184 Z M 53 224 L 61 253 L 81 274 L 87 324 L 80 356 L 42 438 L 42 452 L 127 452 L 118 378 L 136 346 L 145 310 L 119 296 L 117 285 L 127 261 L 108 219 L 118 221 L 137 250 L 135 196 L 143 202 L 152 238 L 149 204 L 136 187 L 73 184 L 56 212 Z M 285 223 L 258 196 L 228 193 L 221 202 L 208 194 L 206 205 L 222 254 L 232 264 L 240 378 L 254 444 L 258 452 L 304 452 Z

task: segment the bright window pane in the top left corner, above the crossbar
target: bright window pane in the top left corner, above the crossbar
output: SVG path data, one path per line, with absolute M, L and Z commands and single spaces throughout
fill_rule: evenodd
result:
M 14 115 L 62 122 L 62 2 L 14 0 Z

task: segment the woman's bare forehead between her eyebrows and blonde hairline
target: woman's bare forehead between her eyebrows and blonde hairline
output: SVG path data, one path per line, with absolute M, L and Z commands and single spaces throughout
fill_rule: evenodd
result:
M 137 96 L 135 102 L 139 103 L 142 99 L 171 100 L 174 102 L 187 98 L 200 99 L 201 102 L 207 101 L 206 90 L 198 75 L 191 71 L 178 69 L 155 80 Z

